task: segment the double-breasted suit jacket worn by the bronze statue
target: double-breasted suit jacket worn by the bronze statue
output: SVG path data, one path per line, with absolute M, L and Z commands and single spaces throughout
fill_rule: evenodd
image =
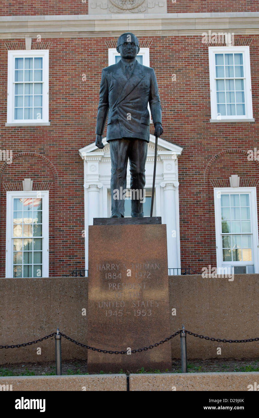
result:
M 138 138 L 149 142 L 149 112 L 162 123 L 162 110 L 153 68 L 136 61 L 132 75 L 124 74 L 121 60 L 102 70 L 96 134 L 103 135 L 108 115 L 107 141 Z

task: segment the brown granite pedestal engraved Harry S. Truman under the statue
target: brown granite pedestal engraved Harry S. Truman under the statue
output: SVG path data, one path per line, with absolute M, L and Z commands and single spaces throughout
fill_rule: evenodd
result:
M 170 335 L 166 225 L 132 219 L 94 220 L 88 270 L 88 345 L 129 353 Z M 141 367 L 170 370 L 170 342 L 132 354 L 88 350 L 90 373 Z

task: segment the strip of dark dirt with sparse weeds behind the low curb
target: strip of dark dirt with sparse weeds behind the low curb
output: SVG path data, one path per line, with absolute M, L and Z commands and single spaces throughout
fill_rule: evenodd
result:
M 191 359 L 188 362 L 189 373 L 199 372 L 258 372 L 258 359 Z M 101 368 L 100 368 L 101 372 Z M 122 372 L 122 371 L 121 371 Z M 123 372 L 126 372 L 123 370 Z M 140 370 L 140 373 L 155 372 L 158 370 Z M 181 360 L 172 360 L 172 370 L 168 372 L 181 373 Z M 87 360 L 63 360 L 63 375 L 87 374 Z M 37 376 L 55 375 L 55 362 L 20 363 L 0 365 L 0 376 Z

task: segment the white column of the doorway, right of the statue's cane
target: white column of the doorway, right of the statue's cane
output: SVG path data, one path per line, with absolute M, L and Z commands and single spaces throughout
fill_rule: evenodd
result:
M 166 223 L 168 268 L 179 268 L 180 233 L 177 218 L 179 217 L 176 188 L 178 181 L 160 184 L 164 194 L 164 222 Z

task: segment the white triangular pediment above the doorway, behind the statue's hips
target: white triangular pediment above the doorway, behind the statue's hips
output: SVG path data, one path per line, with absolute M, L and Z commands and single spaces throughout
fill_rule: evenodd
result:
M 154 135 L 150 135 L 149 137 L 149 143 L 148 143 L 148 156 L 152 157 L 155 154 L 155 141 L 156 138 Z M 90 145 L 86 145 L 85 147 L 81 148 L 79 150 L 79 154 L 81 158 L 85 158 L 89 156 L 90 153 L 96 153 L 96 156 L 99 157 L 109 157 L 110 156 L 110 145 L 106 141 L 106 138 L 103 138 L 103 149 L 99 149 L 95 143 L 93 142 Z M 175 145 L 171 142 L 165 141 L 161 138 L 158 138 L 157 141 L 157 153 L 159 155 L 175 155 L 176 158 L 181 155 L 183 148 L 179 147 L 178 145 Z

